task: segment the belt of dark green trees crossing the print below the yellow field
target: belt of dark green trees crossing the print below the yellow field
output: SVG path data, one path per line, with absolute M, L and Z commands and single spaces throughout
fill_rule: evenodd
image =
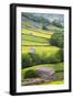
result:
M 50 52 L 49 52 L 50 53 Z M 34 65 L 53 64 L 63 62 L 63 51 L 59 50 L 56 53 L 49 55 L 39 55 L 33 53 L 27 53 L 22 55 L 22 68 L 28 68 Z

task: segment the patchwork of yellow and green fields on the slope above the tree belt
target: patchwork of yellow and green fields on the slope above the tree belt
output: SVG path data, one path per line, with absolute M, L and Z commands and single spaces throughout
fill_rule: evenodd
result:
M 38 30 L 39 31 L 39 30 Z M 43 33 L 44 31 L 41 30 L 41 32 L 33 31 L 33 30 L 22 30 L 22 53 L 29 53 L 30 48 L 34 48 L 36 54 L 53 54 L 56 53 L 60 48 L 56 46 L 52 46 L 49 43 L 49 37 L 51 35 Z M 32 34 L 30 34 L 32 33 Z M 28 45 L 28 46 L 25 46 Z M 34 46 L 32 46 L 34 45 Z M 42 45 L 41 47 L 38 45 Z

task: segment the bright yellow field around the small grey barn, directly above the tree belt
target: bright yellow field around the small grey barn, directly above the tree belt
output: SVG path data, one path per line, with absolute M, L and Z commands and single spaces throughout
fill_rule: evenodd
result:
M 22 53 L 29 53 L 30 48 L 32 46 L 22 46 Z M 33 46 L 33 48 L 35 50 L 35 53 L 41 55 L 41 54 L 45 54 L 45 55 L 51 55 L 56 53 L 60 48 L 55 47 L 55 46 Z

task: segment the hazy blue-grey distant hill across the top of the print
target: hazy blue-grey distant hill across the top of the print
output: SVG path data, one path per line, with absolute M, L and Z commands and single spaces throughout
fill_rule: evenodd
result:
M 21 14 L 22 29 L 63 30 L 63 14 L 23 13 Z

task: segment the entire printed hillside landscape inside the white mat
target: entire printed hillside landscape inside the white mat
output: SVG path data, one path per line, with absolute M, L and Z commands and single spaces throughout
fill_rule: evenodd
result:
M 63 41 L 63 24 L 61 14 L 21 14 L 22 86 L 63 84 L 62 50 L 58 46 Z

